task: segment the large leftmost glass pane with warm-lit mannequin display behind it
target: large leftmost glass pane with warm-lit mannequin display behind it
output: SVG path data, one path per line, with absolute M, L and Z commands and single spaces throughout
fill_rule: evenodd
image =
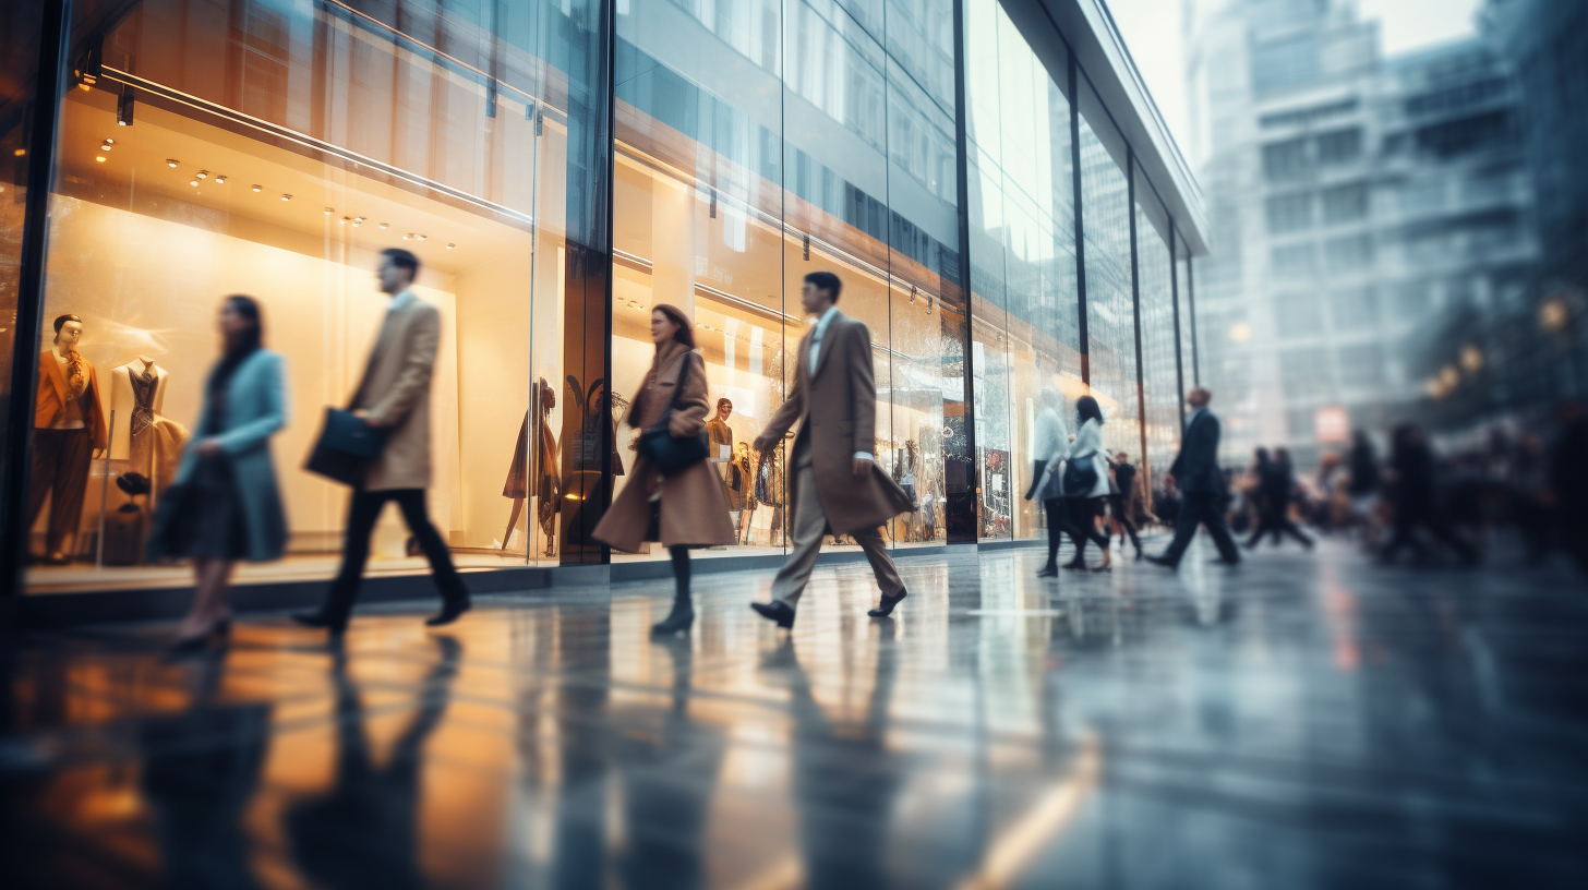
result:
M 395 30 L 399 13 L 422 33 Z M 138 566 L 141 539 L 181 447 L 205 435 L 227 294 L 260 302 L 287 373 L 289 423 L 272 437 L 287 558 L 243 574 L 327 572 L 348 489 L 299 467 L 322 407 L 348 404 L 364 375 L 391 302 L 373 280 L 384 248 L 418 256 L 411 291 L 441 316 L 432 521 L 462 567 L 559 555 L 599 496 L 591 447 L 610 424 L 603 381 L 584 367 L 600 353 L 562 359 L 589 329 L 588 313 L 565 312 L 567 283 L 605 292 L 603 272 L 586 272 L 603 264 L 580 259 L 605 238 L 584 181 L 605 141 L 591 126 L 603 116 L 589 105 L 589 13 L 148 0 L 110 29 L 103 76 L 62 108 L 44 313 L 83 319 L 95 369 L 83 413 L 98 412 L 108 451 L 83 464 L 57 447 L 57 467 L 35 480 L 35 494 L 51 489 L 37 499 L 67 512 L 86 497 L 81 515 L 40 510 L 35 551 L 70 564 L 35 567 L 30 585 L 181 577 Z M 133 126 L 118 127 L 129 94 Z M 424 571 L 411 553 L 387 512 L 372 571 Z

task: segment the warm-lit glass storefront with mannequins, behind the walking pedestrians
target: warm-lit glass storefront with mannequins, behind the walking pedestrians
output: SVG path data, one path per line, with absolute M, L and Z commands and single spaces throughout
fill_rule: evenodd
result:
M 915 502 L 894 547 L 1045 534 L 1021 497 L 1045 389 L 1067 413 L 1096 394 L 1113 450 L 1137 455 L 1145 420 L 1154 472 L 1178 439 L 1167 213 L 1139 189 L 1137 356 L 1127 146 L 1059 35 L 996 0 L 78 6 L 94 29 L 65 49 L 37 354 L 52 319 L 81 319 L 106 448 L 67 461 L 29 440 L 49 458 L 16 510 L 30 590 L 186 582 L 143 564 L 143 539 L 237 292 L 264 305 L 292 407 L 273 440 L 289 555 L 240 578 L 326 577 L 346 491 L 299 467 L 362 373 L 387 246 L 419 256 L 416 292 L 443 316 L 430 509 L 462 567 L 608 558 L 588 531 L 629 480 L 618 418 L 657 302 L 694 319 L 724 410 L 711 459 L 738 544 L 710 555 L 781 553 L 788 443 L 750 445 L 792 385 L 818 269 L 872 331 L 875 455 Z M 19 159 L 37 65 L 6 60 L 0 140 Z M 13 312 L 24 184 L 0 195 Z M 422 569 L 405 534 L 384 520 L 372 571 Z

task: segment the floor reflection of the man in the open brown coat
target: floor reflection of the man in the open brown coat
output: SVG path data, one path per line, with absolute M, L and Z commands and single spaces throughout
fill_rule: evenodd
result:
M 883 634 L 891 636 L 891 634 Z M 807 887 L 888 887 L 889 817 L 904 784 L 888 752 L 888 707 L 899 653 L 885 639 L 877 650 L 865 723 L 829 720 L 811 695 L 788 639 L 767 655 L 764 669 L 781 669 L 794 718 L 794 793 L 800 809 Z

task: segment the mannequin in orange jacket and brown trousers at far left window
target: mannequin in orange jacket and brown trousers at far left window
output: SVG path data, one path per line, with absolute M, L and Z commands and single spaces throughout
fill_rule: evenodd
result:
M 49 531 L 44 561 L 65 566 L 71 558 L 83 497 L 87 494 L 89 461 L 110 447 L 105 405 L 94 364 L 78 353 L 83 319 L 56 318 L 56 339 L 38 358 L 38 394 L 33 402 L 33 458 L 27 483 L 27 528 L 32 529 L 49 496 Z

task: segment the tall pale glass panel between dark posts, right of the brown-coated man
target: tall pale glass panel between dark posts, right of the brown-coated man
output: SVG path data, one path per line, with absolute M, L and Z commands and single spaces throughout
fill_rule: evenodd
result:
M 1002 8 L 967 3 L 970 273 L 983 539 L 1039 537 L 1024 501 L 1043 391 L 1080 394 L 1070 103 Z M 1067 78 L 1066 78 L 1067 79 Z

